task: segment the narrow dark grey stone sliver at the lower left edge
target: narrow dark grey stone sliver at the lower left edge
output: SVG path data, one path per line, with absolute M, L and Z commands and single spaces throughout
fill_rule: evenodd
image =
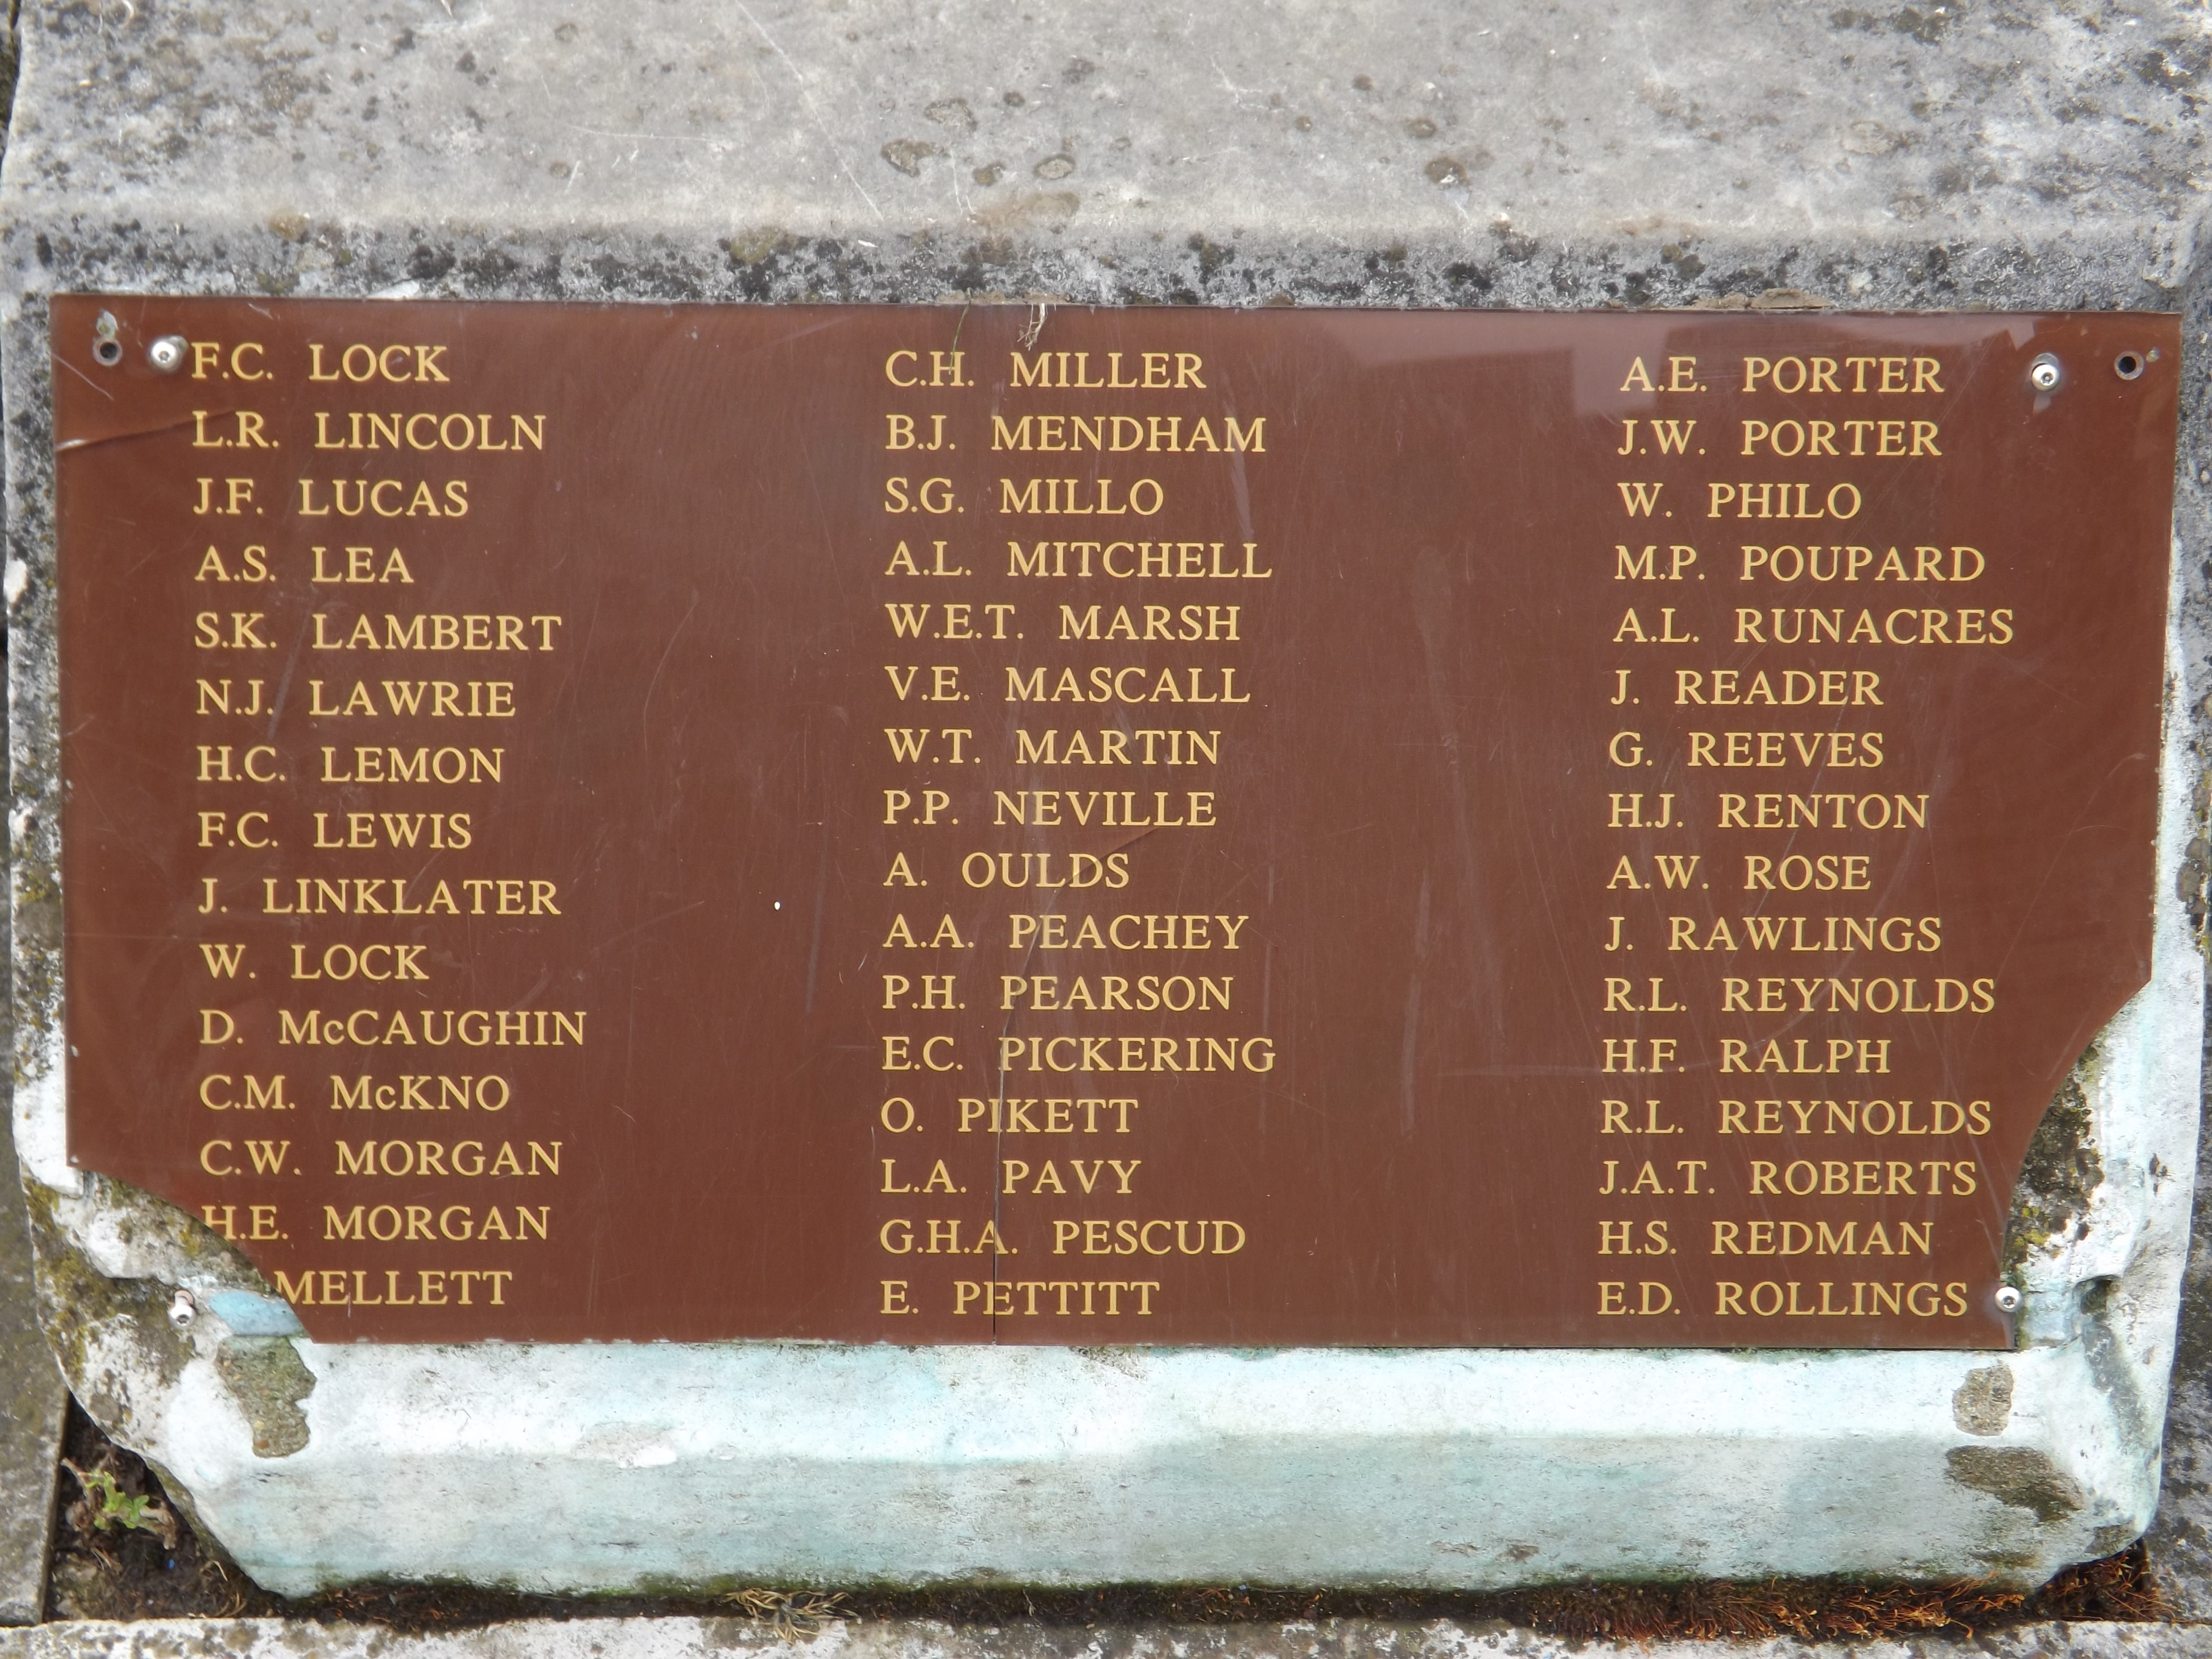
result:
M 0 1144 L 0 1624 L 35 1624 L 69 1396 L 38 1329 L 15 1148 Z

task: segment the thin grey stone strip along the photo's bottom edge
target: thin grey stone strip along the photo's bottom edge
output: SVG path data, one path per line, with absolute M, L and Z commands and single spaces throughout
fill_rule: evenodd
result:
M 2205 1659 L 2212 1630 L 2031 1624 L 1964 1641 L 1564 1641 L 1513 1626 L 1325 1619 L 1281 1626 L 945 1626 L 836 1621 L 779 1637 L 750 1619 L 575 1619 L 394 1635 L 283 1619 L 49 1624 L 0 1632 L 0 1659 Z

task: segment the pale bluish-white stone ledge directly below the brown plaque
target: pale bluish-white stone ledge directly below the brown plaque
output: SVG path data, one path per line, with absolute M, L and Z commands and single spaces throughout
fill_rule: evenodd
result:
M 2093 1365 L 2121 1354 L 2097 1321 L 2006 1358 L 1756 1363 L 299 1347 L 305 1447 L 254 1451 L 217 1349 L 186 1367 L 150 1453 L 285 1595 L 440 1577 L 2037 1582 L 2121 1548 L 2157 1504 L 2157 1440 L 2099 1405 Z

